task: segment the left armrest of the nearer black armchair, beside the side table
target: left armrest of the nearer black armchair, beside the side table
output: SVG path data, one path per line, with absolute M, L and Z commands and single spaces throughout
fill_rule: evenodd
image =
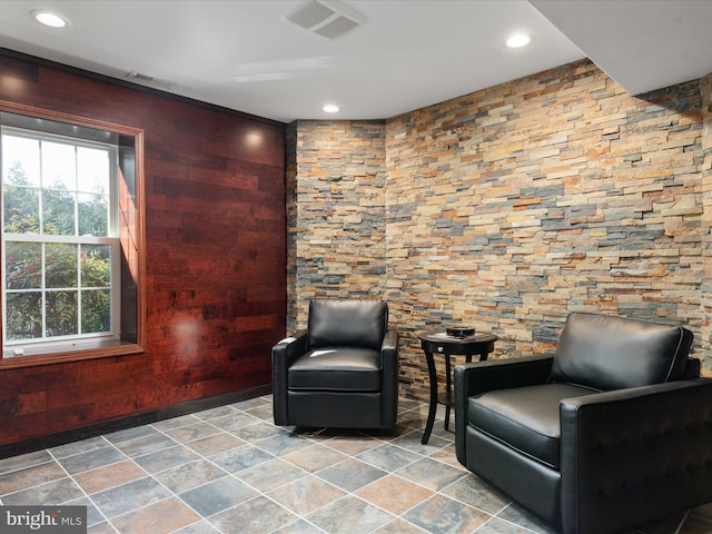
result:
M 490 359 L 455 366 L 455 452 L 461 464 L 465 462 L 465 428 L 467 427 L 467 398 L 495 389 L 545 384 L 554 357 Z

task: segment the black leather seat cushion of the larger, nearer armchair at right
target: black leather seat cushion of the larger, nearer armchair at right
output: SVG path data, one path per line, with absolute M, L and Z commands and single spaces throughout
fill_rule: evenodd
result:
M 523 454 L 558 469 L 564 398 L 596 393 L 570 384 L 541 384 L 498 389 L 469 397 L 468 424 Z

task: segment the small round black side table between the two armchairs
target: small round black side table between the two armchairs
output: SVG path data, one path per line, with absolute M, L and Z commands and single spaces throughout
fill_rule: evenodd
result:
M 473 355 L 479 355 L 479 362 L 487 359 L 487 355 L 494 350 L 494 342 L 498 339 L 494 334 L 474 334 L 467 337 L 452 337 L 444 332 L 424 332 L 418 334 L 421 347 L 427 360 L 427 373 L 431 379 L 431 405 L 427 414 L 425 434 L 423 434 L 423 445 L 431 438 L 433 424 L 435 423 L 435 412 L 438 404 L 445 405 L 445 429 L 449 426 L 449 408 L 453 405 L 453 384 L 451 377 L 451 355 L 458 354 L 466 357 L 471 363 Z M 445 392 L 437 393 L 437 374 L 435 373 L 435 354 L 445 356 Z

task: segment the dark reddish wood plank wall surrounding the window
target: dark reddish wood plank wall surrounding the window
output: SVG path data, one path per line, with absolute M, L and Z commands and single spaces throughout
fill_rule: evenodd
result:
M 0 445 L 271 382 L 285 125 L 0 53 L 0 99 L 145 130 L 147 349 L 0 366 Z

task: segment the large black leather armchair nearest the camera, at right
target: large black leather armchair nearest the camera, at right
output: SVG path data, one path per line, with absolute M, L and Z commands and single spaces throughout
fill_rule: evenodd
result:
M 712 379 L 691 344 L 573 313 L 555 355 L 456 366 L 457 459 L 565 534 L 712 502 Z

